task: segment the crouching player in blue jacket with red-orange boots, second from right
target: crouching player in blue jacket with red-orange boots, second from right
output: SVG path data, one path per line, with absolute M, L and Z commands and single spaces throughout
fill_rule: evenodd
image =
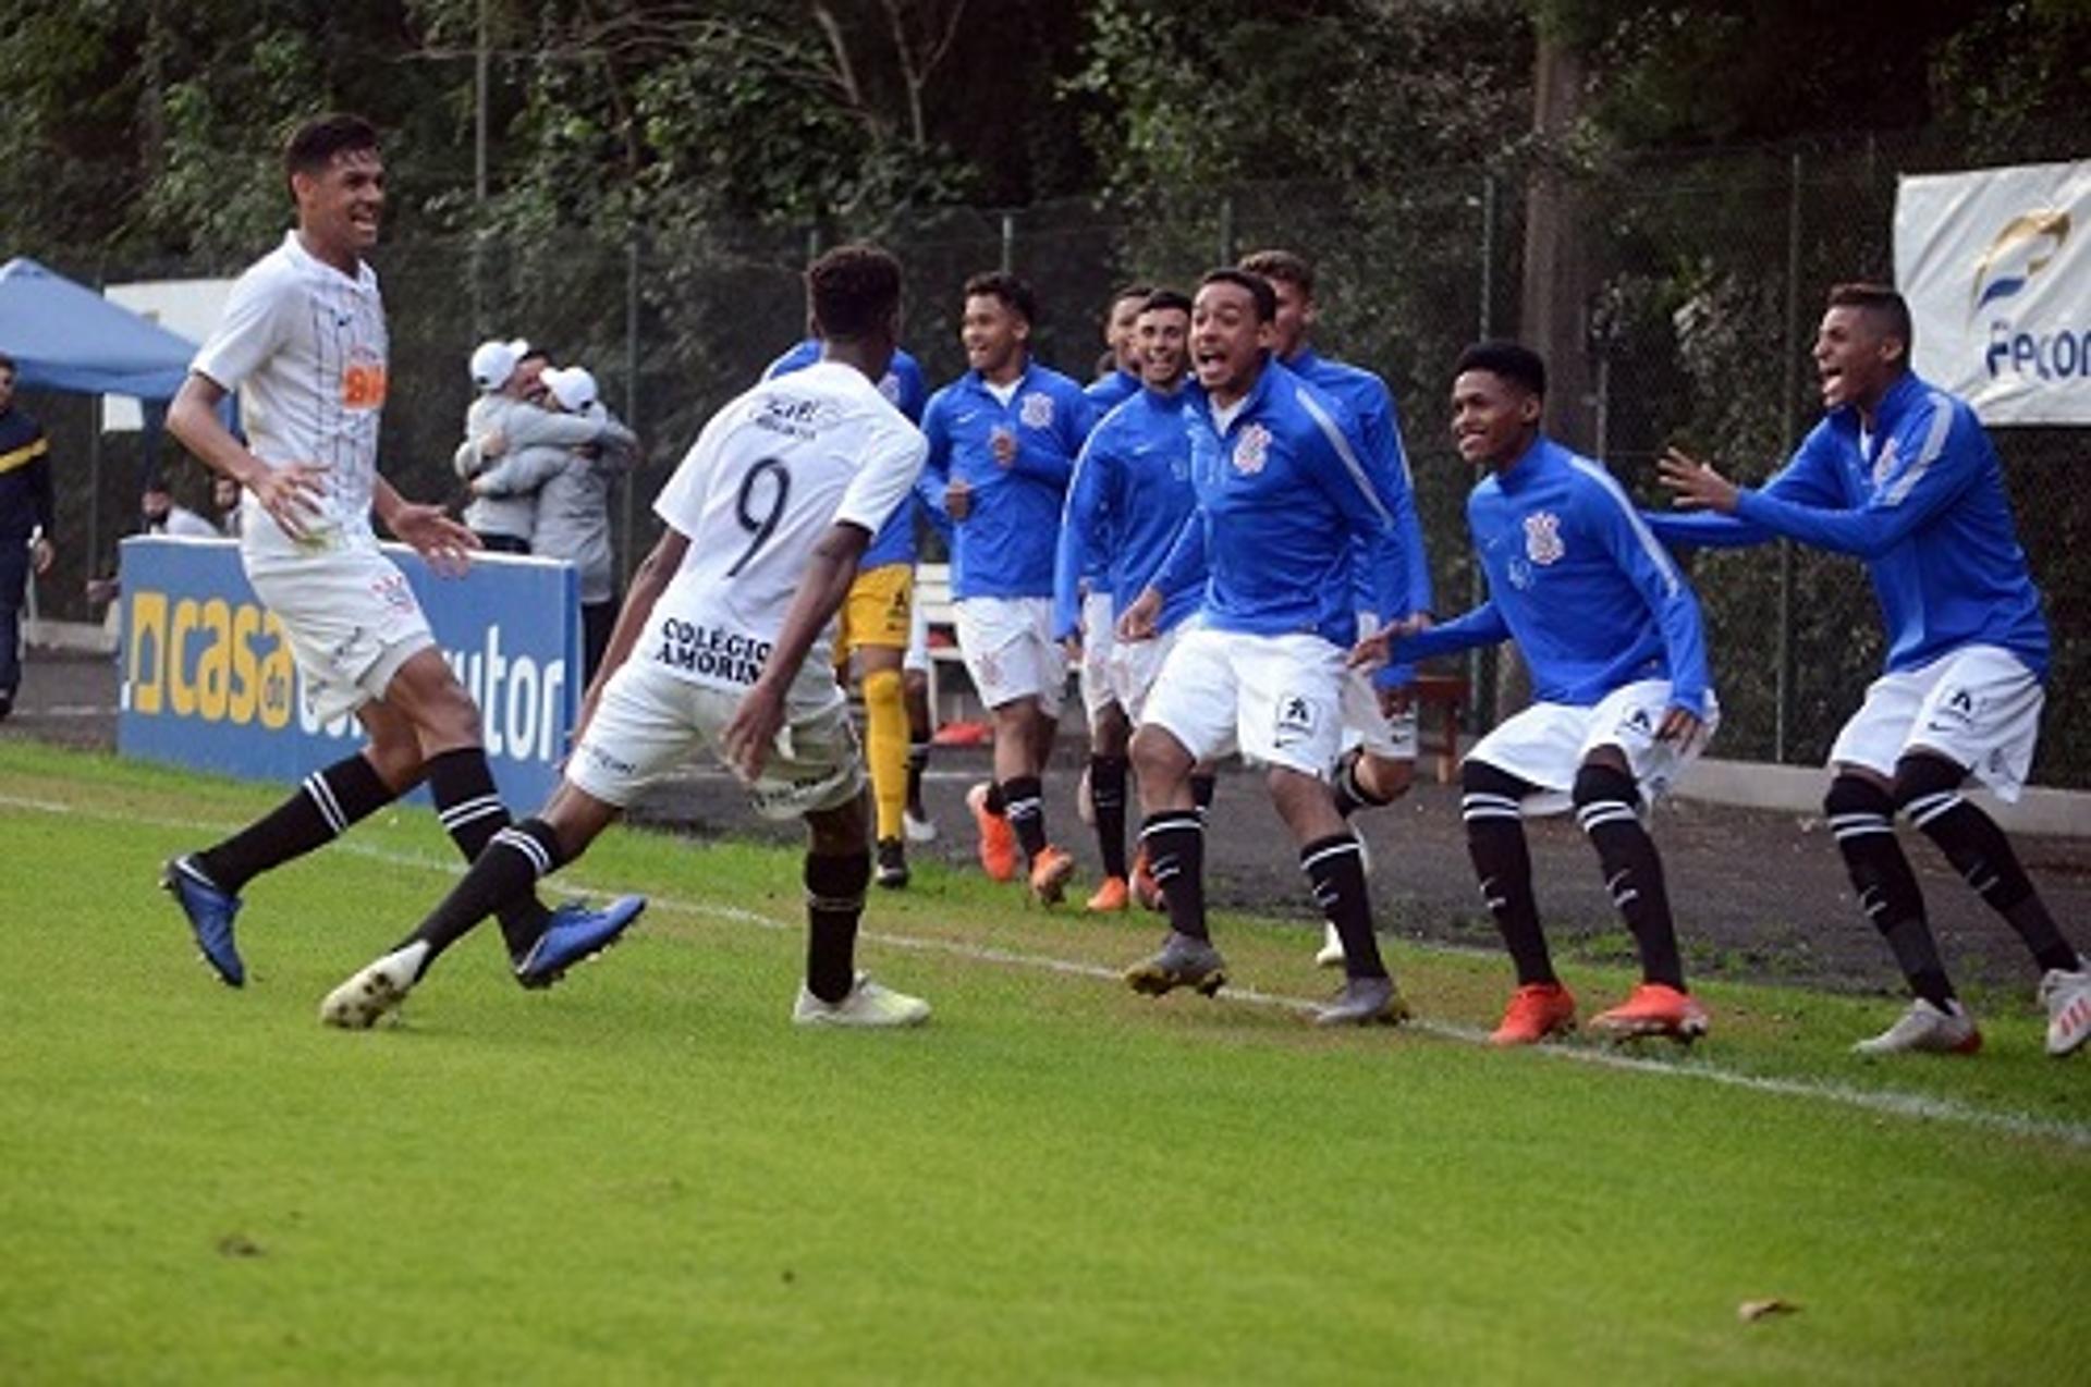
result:
M 1570 804 L 1641 953 L 1641 986 L 1591 1028 L 1692 1040 L 1706 1011 L 1685 992 L 1662 859 L 1639 815 L 1717 721 L 1698 600 L 1612 474 L 1539 432 L 1545 393 L 1545 363 L 1516 343 L 1460 355 L 1453 443 L 1489 472 L 1466 501 L 1489 600 L 1443 627 L 1361 641 L 1355 660 L 1414 662 L 1512 639 L 1533 673 L 1533 706 L 1460 767 L 1468 854 L 1518 969 L 1489 1040 L 1533 1044 L 1575 1024 L 1539 927 L 1522 823 Z

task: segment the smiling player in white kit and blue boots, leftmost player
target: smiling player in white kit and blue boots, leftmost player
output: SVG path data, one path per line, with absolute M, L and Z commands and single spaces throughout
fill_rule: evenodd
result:
M 203 959 L 230 986 L 247 982 L 232 938 L 240 888 L 309 852 L 422 779 L 466 859 L 504 827 L 481 746 L 479 708 L 458 683 L 406 577 L 378 549 L 376 514 L 439 572 L 462 572 L 479 541 L 435 506 L 399 497 L 376 470 L 385 405 L 385 305 L 362 255 L 376 242 L 385 163 L 376 132 L 353 115 L 299 127 L 284 150 L 297 230 L 238 278 L 224 320 L 197 353 L 167 428 L 245 489 L 240 562 L 282 622 L 314 712 L 355 712 L 362 752 L 305 777 L 274 813 L 186 852 L 163 886 L 180 902 Z M 217 420 L 240 393 L 249 443 Z M 550 986 L 598 953 L 638 913 L 560 909 L 516 896 L 502 936 L 523 986 Z

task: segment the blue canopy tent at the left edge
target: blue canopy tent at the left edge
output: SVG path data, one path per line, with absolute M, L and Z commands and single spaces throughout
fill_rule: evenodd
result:
M 31 391 L 134 395 L 146 403 L 146 470 L 155 468 L 165 405 L 182 389 L 197 343 L 111 303 L 33 259 L 0 265 L 0 351 Z M 100 547 L 100 428 L 88 443 L 88 554 Z

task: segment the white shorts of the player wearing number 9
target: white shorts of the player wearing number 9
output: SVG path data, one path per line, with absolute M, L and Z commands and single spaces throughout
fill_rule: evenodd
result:
M 809 666 L 811 668 L 811 666 Z M 627 660 L 611 675 L 581 742 L 567 756 L 567 779 L 604 804 L 631 800 L 700 746 L 717 754 L 740 691 L 680 679 L 652 660 Z M 849 723 L 849 702 L 834 679 L 799 679 L 788 721 L 749 785 L 755 813 L 797 819 L 841 808 L 864 794 L 864 754 Z

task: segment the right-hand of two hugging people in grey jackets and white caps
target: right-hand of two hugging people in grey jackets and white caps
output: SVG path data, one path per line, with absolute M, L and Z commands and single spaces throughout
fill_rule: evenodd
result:
M 596 437 L 579 447 L 519 447 L 473 480 L 473 491 L 496 497 L 510 489 L 535 491 L 537 528 L 531 554 L 562 558 L 581 574 L 581 687 L 617 625 L 617 568 L 611 554 L 611 483 L 638 460 L 638 437 L 596 399 L 596 378 L 579 366 L 544 374 L 546 405 L 560 422 L 585 422 Z

